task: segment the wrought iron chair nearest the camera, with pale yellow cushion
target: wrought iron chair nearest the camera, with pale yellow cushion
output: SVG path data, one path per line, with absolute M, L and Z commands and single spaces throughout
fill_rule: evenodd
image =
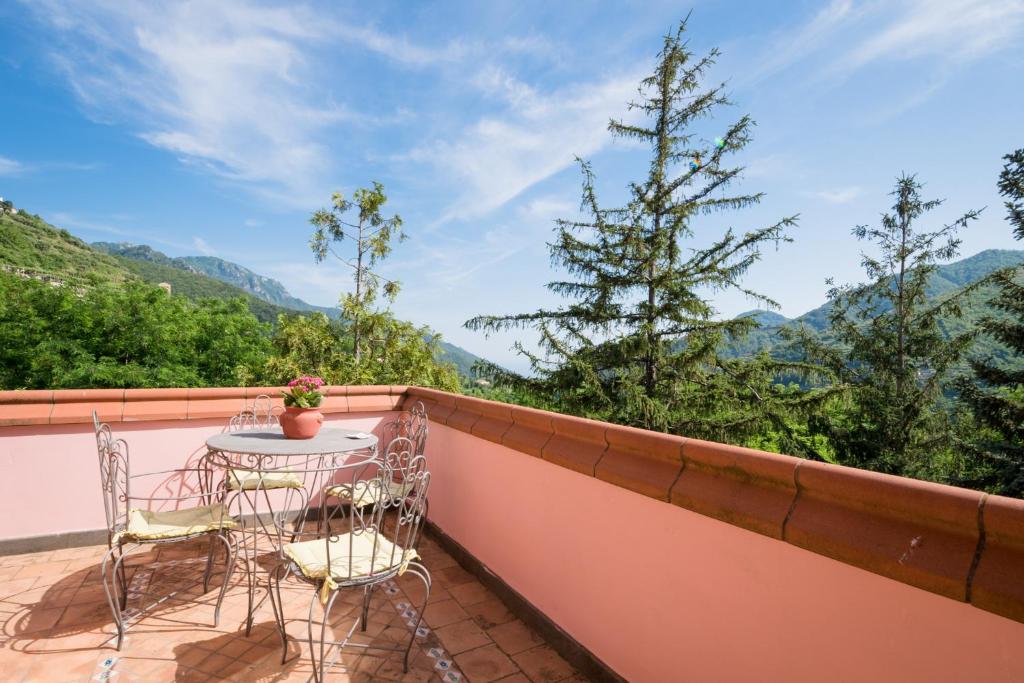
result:
M 415 450 L 415 441 L 410 438 L 398 436 L 392 439 L 383 456 L 367 461 L 362 471 L 353 478 L 356 496 L 370 497 L 367 505 L 334 507 L 322 527 L 325 529 L 323 538 L 288 544 L 282 549 L 285 559 L 270 571 L 270 598 L 284 650 L 282 664 L 288 659 L 288 632 L 281 583 L 288 575 L 295 575 L 314 588 L 309 602 L 307 633 L 315 681 L 324 679 L 328 646 L 403 652 L 402 666 L 409 672 L 409 653 L 423 620 L 431 585 L 430 573 L 417 561 L 419 555 L 415 550 L 423 522 L 430 473 L 426 469 L 426 460 Z M 406 494 L 397 498 L 391 496 L 385 485 L 391 481 L 406 484 Z M 386 529 L 384 520 L 389 514 L 394 517 L 394 523 L 393 528 Z M 332 521 L 336 519 L 342 530 L 332 529 Z M 362 631 L 367 629 L 374 589 L 407 571 L 418 577 L 426 587 L 409 642 L 404 646 L 350 642 L 357 626 L 361 624 Z M 331 608 L 342 590 L 353 588 L 364 591 L 361 613 L 352 623 L 344 640 L 328 640 Z M 318 639 L 313 637 L 313 610 L 317 603 L 324 606 Z

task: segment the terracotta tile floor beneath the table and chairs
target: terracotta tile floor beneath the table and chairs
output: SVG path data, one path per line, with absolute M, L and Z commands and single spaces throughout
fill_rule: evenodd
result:
M 305 615 L 312 589 L 294 579 L 284 586 L 289 644 L 281 665 L 281 640 L 268 600 L 245 637 L 245 572 L 236 570 L 220 627 L 213 604 L 222 568 L 202 592 L 206 542 L 152 546 L 129 560 L 129 608 L 145 608 L 114 649 L 113 622 L 99 580 L 105 547 L 73 548 L 0 557 L 0 680 L 3 681 L 305 681 L 311 680 Z M 582 681 L 580 674 L 518 622 L 506 606 L 460 567 L 431 539 L 420 544 L 433 577 L 423 633 L 411 671 L 401 655 L 334 650 L 329 681 Z M 220 565 L 223 566 L 222 564 Z M 400 577 L 374 595 L 361 642 L 406 642 L 402 611 L 423 598 L 422 584 Z M 265 592 L 261 592 L 265 595 Z M 331 615 L 341 639 L 358 613 L 361 593 L 349 591 Z M 344 600 L 344 601 L 343 601 Z M 323 614 L 315 608 L 316 618 Z

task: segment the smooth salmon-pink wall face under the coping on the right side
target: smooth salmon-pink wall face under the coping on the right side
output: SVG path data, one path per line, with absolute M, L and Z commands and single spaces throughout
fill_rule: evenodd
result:
M 431 424 L 432 520 L 630 681 L 1021 681 L 1024 624 Z

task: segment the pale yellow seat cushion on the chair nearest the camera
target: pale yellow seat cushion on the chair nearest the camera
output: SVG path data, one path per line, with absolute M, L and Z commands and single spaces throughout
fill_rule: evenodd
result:
M 374 541 L 377 542 L 376 553 Z M 351 542 L 351 552 L 349 552 Z M 416 550 L 406 550 L 369 528 L 356 533 L 341 533 L 331 541 L 331 568 L 327 566 L 327 541 L 314 539 L 290 543 L 284 547 L 287 555 L 307 579 L 323 579 L 321 599 L 325 602 L 332 590 L 345 583 L 374 574 L 397 571 L 404 573 L 409 563 L 419 557 Z

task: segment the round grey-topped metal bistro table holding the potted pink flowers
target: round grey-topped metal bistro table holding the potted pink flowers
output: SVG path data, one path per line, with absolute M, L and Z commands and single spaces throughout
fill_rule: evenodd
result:
M 275 428 L 225 432 L 206 440 L 207 461 L 224 473 L 224 503 L 229 511 L 238 506 L 232 514 L 240 518 L 249 583 L 246 635 L 252 630 L 258 607 L 254 596 L 259 538 L 265 537 L 270 549 L 280 555 L 286 537 L 294 542 L 303 536 L 313 497 L 334 483 L 339 472 L 354 471 L 376 459 L 377 437 L 326 428 L 312 438 L 290 439 Z M 243 510 L 243 504 L 247 509 Z M 295 521 L 289 529 L 290 518 Z

